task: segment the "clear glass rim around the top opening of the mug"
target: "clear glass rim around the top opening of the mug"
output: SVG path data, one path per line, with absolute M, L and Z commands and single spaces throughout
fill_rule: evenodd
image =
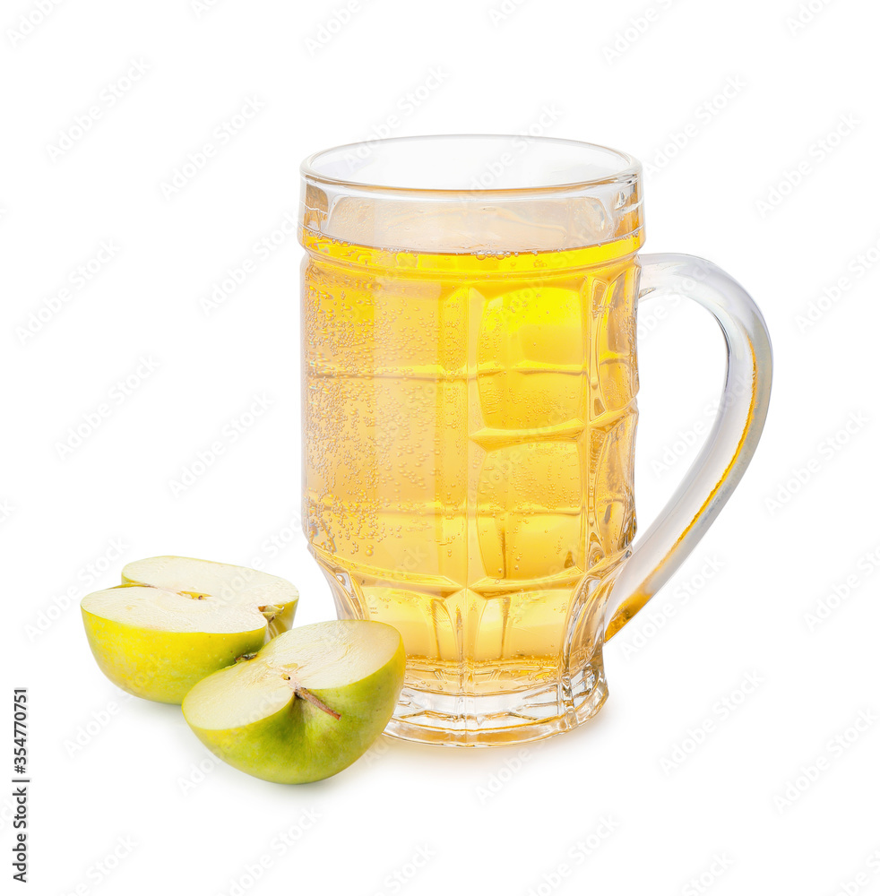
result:
M 617 168 L 606 175 L 600 177 L 585 177 L 578 180 L 565 180 L 558 184 L 550 185 L 522 185 L 522 186 L 460 186 L 460 187 L 424 187 L 424 186 L 399 186 L 376 184 L 370 178 L 338 177 L 323 173 L 319 168 L 320 159 L 323 156 L 331 154 L 339 154 L 344 151 L 352 153 L 358 151 L 362 147 L 369 147 L 370 153 L 375 151 L 377 146 L 388 143 L 412 143 L 425 145 L 427 143 L 437 143 L 452 140 L 482 140 L 497 142 L 513 142 L 522 140 L 530 143 L 539 143 L 543 145 L 553 144 L 556 146 L 565 145 L 577 151 L 589 151 L 593 154 L 604 154 L 614 157 L 618 161 Z M 491 196 L 496 198 L 503 197 L 522 197 L 537 196 L 546 194 L 572 193 L 579 191 L 588 191 L 593 187 L 608 186 L 614 184 L 626 184 L 638 179 L 642 175 L 642 164 L 634 156 L 628 152 L 604 146 L 600 143 L 591 143 L 581 140 L 573 140 L 567 137 L 548 137 L 545 135 L 532 136 L 531 134 L 415 134 L 411 136 L 384 137 L 376 140 L 358 141 L 352 143 L 341 143 L 338 146 L 332 146 L 324 150 L 313 152 L 311 155 L 303 159 L 299 166 L 301 177 L 308 183 L 315 185 L 328 185 L 341 189 L 343 191 L 352 191 L 368 194 L 389 194 L 397 197 L 401 196 L 433 196 L 455 197 L 455 196 Z

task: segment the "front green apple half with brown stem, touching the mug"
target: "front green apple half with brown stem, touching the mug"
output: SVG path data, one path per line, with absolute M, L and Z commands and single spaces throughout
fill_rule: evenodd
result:
M 329 778 L 392 717 L 405 658 L 397 629 L 359 619 L 303 625 L 204 678 L 184 718 L 211 753 L 263 780 Z

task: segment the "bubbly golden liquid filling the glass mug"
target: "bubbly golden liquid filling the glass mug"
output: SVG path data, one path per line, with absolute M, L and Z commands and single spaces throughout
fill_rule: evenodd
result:
M 399 629 L 415 686 L 558 676 L 575 595 L 634 535 L 634 238 L 301 238 L 304 518 L 341 614 Z

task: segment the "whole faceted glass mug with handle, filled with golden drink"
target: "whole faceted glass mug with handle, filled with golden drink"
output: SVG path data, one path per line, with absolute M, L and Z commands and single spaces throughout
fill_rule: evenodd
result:
M 604 642 L 755 452 L 762 316 L 712 263 L 638 254 L 642 172 L 622 152 L 401 137 L 301 172 L 304 529 L 339 615 L 401 632 L 388 733 L 573 728 L 608 694 Z M 727 378 L 703 452 L 633 543 L 636 309 L 661 294 L 714 315 Z

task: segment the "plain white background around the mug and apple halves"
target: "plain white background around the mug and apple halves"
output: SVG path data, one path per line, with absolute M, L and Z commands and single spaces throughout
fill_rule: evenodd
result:
M 360 0 L 328 41 L 343 5 L 0 14 L 4 685 L 7 718 L 11 688 L 30 688 L 31 892 L 880 892 L 876 4 L 812 0 L 794 28 L 798 0 Z M 217 138 L 249 100 L 252 120 Z M 299 788 L 220 767 L 177 708 L 101 676 L 76 606 L 126 561 L 171 553 L 261 558 L 298 584 L 298 622 L 333 616 L 298 521 L 295 237 L 213 313 L 201 300 L 296 211 L 307 153 L 389 116 L 393 134 L 517 133 L 542 114 L 548 134 L 651 163 L 646 251 L 705 255 L 762 307 L 776 375 L 755 461 L 608 645 L 593 723 L 524 754 L 384 740 Z M 163 195 L 206 142 L 203 169 Z M 102 243 L 113 257 L 80 280 Z M 657 308 L 641 323 L 643 529 L 722 370 L 706 315 Z M 258 397 L 268 409 L 172 495 Z M 10 808 L 0 797 L 7 859 Z

